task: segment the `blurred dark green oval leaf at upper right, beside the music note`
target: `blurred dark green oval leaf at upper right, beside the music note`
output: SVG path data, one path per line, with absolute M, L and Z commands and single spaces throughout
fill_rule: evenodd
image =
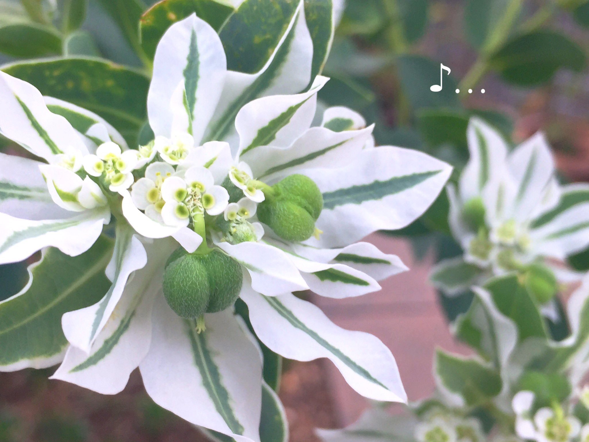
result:
M 585 52 L 575 42 L 545 30 L 512 38 L 489 58 L 491 68 L 519 86 L 546 83 L 561 68 L 581 72 L 586 64 Z

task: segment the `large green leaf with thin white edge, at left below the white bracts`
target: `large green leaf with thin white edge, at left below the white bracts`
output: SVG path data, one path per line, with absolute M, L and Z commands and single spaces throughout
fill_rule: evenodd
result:
M 108 290 L 104 269 L 112 242 L 102 237 L 75 258 L 47 249 L 29 267 L 21 292 L 0 302 L 0 371 L 57 364 L 68 345 L 61 316 L 97 301 Z

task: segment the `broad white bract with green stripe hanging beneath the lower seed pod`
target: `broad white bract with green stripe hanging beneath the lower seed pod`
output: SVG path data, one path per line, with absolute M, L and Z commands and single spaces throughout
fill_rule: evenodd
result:
M 204 322 L 198 334 L 163 296 L 155 300 L 151 346 L 139 365 L 145 390 L 190 423 L 259 442 L 262 360 L 255 339 L 230 309 L 206 314 Z

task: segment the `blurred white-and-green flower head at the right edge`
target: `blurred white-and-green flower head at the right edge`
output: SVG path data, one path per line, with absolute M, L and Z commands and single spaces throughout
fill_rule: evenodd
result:
M 456 295 L 493 275 L 562 262 L 589 245 L 589 186 L 558 184 L 542 134 L 509 151 L 501 134 L 472 118 L 467 135 L 470 159 L 458 189 L 448 186 L 449 224 L 464 254 L 439 263 L 434 285 Z M 561 282 L 580 279 L 562 267 L 551 272 Z

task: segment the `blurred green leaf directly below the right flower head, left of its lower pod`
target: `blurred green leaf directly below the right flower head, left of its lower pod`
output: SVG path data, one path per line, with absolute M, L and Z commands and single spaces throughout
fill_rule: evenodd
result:
M 517 275 L 489 279 L 484 288 L 491 293 L 499 312 L 517 325 L 519 343 L 530 337 L 547 337 L 540 309 Z

